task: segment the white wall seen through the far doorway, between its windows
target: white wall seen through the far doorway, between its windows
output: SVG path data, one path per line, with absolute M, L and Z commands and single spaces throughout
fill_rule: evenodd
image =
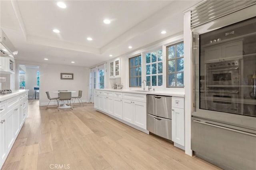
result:
M 34 99 L 34 87 L 38 87 L 37 79 L 36 79 L 36 72 L 39 71 L 39 69 L 33 69 L 33 68 L 26 68 L 26 74 L 25 74 L 25 88 L 28 89 L 28 97 Z

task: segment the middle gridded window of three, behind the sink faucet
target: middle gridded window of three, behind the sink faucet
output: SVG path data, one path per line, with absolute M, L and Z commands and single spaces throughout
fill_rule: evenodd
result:
M 163 85 L 162 49 L 146 54 L 146 81 L 152 86 Z

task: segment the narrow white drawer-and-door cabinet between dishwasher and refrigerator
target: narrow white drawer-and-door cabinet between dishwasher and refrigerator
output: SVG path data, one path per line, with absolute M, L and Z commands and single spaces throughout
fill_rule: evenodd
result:
M 185 146 L 184 98 L 172 97 L 172 141 L 184 150 Z

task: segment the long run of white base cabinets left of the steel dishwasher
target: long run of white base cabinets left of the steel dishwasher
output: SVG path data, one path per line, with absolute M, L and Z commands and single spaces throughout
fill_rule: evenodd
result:
M 146 130 L 146 95 L 95 91 L 94 108 L 119 118 L 134 128 Z M 135 126 L 133 126 L 135 125 Z

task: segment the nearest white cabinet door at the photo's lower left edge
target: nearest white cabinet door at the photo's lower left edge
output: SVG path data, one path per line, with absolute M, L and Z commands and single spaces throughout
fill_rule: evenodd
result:
M 4 164 L 4 160 L 7 157 L 7 145 L 6 145 L 6 121 L 7 121 L 7 114 L 3 115 L 0 118 L 0 168 Z

